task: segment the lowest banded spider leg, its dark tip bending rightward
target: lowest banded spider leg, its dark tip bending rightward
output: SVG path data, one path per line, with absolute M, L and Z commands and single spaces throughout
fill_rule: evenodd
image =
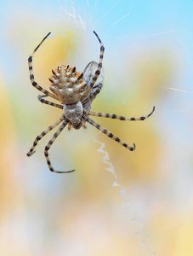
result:
M 49 156 L 48 156 L 48 150 L 49 148 L 52 146 L 52 144 L 54 143 L 55 139 L 60 135 L 60 132 L 65 128 L 65 125 L 67 125 L 67 121 L 64 121 L 62 123 L 62 125 L 60 126 L 60 128 L 54 133 L 54 136 L 51 138 L 51 140 L 48 142 L 47 146 L 45 147 L 44 150 L 44 155 L 46 157 L 47 160 L 47 164 L 49 167 L 49 170 L 51 172 L 57 172 L 57 173 L 68 173 L 68 172 L 74 172 L 75 170 L 71 170 L 71 171 L 65 171 L 65 172 L 59 172 L 59 171 L 55 171 L 50 160 L 49 160 Z

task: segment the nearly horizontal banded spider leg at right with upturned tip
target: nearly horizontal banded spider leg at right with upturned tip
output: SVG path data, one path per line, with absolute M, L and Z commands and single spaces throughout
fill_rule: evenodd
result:
M 152 113 L 154 113 L 155 107 L 153 107 L 153 109 L 151 110 L 150 113 L 148 113 L 147 115 L 144 116 L 140 116 L 140 117 L 123 117 L 122 115 L 116 115 L 115 113 L 98 113 L 98 112 L 93 112 L 93 111 L 87 111 L 84 110 L 85 113 L 87 113 L 88 115 L 93 115 L 93 116 L 98 116 L 98 117 L 104 117 L 104 118 L 110 118 L 110 119 L 119 119 L 119 120 L 123 120 L 123 121 L 143 121 L 145 119 L 148 119 L 150 117 L 150 115 Z

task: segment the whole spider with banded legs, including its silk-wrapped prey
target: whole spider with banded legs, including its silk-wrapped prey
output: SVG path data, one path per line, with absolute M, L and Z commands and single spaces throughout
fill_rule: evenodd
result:
M 90 110 L 91 104 L 94 101 L 95 96 L 99 94 L 99 91 L 103 86 L 103 74 L 102 74 L 102 61 L 104 55 L 104 45 L 102 44 L 98 34 L 94 32 L 94 35 L 99 40 L 100 44 L 100 55 L 99 55 L 99 63 L 95 61 L 91 61 L 88 63 L 88 66 L 85 67 L 82 73 L 76 71 L 76 67 L 69 67 L 69 65 L 61 65 L 58 68 L 52 70 L 53 75 L 49 78 L 51 82 L 49 89 L 45 90 L 42 86 L 37 84 L 32 67 L 33 55 L 36 53 L 37 49 L 43 44 L 43 41 L 48 38 L 51 32 L 43 38 L 40 44 L 37 45 L 36 49 L 32 52 L 30 57 L 28 58 L 28 65 L 30 71 L 30 79 L 31 84 L 37 89 L 40 90 L 43 95 L 38 96 L 38 100 L 44 104 L 48 104 L 50 106 L 54 106 L 56 108 L 63 109 L 63 113 L 60 119 L 56 120 L 54 125 L 48 126 L 48 129 L 43 131 L 40 135 L 36 137 L 34 143 L 27 153 L 27 156 L 31 156 L 31 154 L 35 153 L 35 148 L 37 147 L 38 141 L 40 141 L 45 135 L 48 134 L 49 131 L 52 131 L 57 125 L 60 125 L 60 128 L 54 133 L 54 136 L 49 140 L 47 146 L 44 149 L 44 155 L 47 160 L 48 168 L 51 172 L 57 173 L 68 173 L 74 172 L 75 170 L 59 172 L 55 171 L 54 167 L 49 160 L 48 150 L 54 143 L 55 139 L 60 135 L 60 132 L 63 131 L 66 125 L 68 125 L 68 129 L 80 129 L 81 127 L 86 128 L 85 123 L 88 122 L 90 125 L 94 125 L 99 131 L 102 131 L 108 137 L 112 138 L 117 143 L 120 143 L 123 147 L 128 148 L 130 151 L 135 149 L 135 144 L 133 146 L 129 146 L 127 143 L 122 142 L 119 137 L 116 137 L 111 132 L 104 129 L 102 126 L 98 125 L 94 122 L 94 120 L 90 119 L 89 116 L 96 117 L 104 117 L 109 119 L 119 119 L 119 120 L 145 120 L 150 117 L 150 115 L 154 112 L 155 107 L 153 107 L 152 111 L 138 118 L 128 118 L 119 116 L 111 113 L 96 113 Z M 56 101 L 59 101 L 60 104 L 55 102 L 49 102 L 44 99 L 44 97 L 51 97 Z

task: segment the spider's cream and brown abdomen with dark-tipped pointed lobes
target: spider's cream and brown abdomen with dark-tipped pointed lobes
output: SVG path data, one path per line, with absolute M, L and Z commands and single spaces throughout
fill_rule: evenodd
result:
M 53 76 L 49 78 L 51 82 L 50 90 L 58 96 L 63 104 L 75 104 L 81 100 L 82 92 L 85 90 L 86 82 L 83 74 L 76 72 L 76 67 L 62 65 L 52 70 Z

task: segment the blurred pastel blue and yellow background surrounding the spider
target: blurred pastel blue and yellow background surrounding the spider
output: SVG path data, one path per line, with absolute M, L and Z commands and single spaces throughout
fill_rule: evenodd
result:
M 0 254 L 5 256 L 193 255 L 193 2 L 0 1 Z M 51 68 L 82 70 L 105 44 L 104 88 L 94 111 L 144 122 L 94 118 L 129 152 L 88 124 L 53 132 L 60 117 L 37 101 L 27 58 L 48 89 Z

